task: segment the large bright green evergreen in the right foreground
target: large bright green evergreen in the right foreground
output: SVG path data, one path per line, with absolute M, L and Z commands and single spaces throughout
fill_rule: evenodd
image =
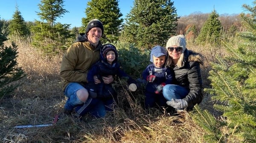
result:
M 241 14 L 245 31 L 237 34 L 241 40 L 237 42 L 238 48 L 228 45 L 228 56 L 217 56 L 218 62 L 212 63 L 209 73 L 212 88 L 205 91 L 219 101 L 214 108 L 227 118 L 222 121 L 226 126 L 219 127 L 225 132 L 216 142 L 224 139 L 223 143 L 256 143 L 256 1 L 253 3 L 253 7 L 243 5 L 250 14 Z M 201 118 L 197 121 L 205 124 L 206 116 L 198 115 Z

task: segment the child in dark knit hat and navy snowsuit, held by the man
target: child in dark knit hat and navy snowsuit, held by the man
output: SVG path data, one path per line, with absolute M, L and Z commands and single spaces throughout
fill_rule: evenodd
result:
M 129 90 L 135 91 L 137 90 L 136 81 L 128 76 L 121 68 L 119 63 L 117 62 L 117 51 L 116 47 L 112 44 L 102 45 L 100 48 L 100 60 L 93 64 L 90 70 L 87 73 L 88 83 L 85 85 L 87 88 L 89 95 L 91 98 L 90 103 L 85 103 L 76 108 L 76 112 L 79 115 L 84 115 L 87 112 L 95 115 L 96 117 L 102 117 L 105 115 L 104 113 L 93 113 L 90 111 L 90 107 L 93 107 L 95 102 L 103 102 L 105 108 L 102 111 L 111 111 L 111 104 L 113 104 L 113 99 L 117 102 L 117 93 L 113 89 L 111 84 L 105 84 L 102 80 L 102 77 L 108 77 L 112 75 L 113 77 L 126 77 L 127 83 L 130 85 Z M 95 84 L 93 77 L 97 76 L 97 79 L 101 80 L 100 84 Z

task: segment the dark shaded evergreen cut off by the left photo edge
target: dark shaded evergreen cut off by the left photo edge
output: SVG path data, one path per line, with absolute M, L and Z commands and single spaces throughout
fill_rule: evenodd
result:
M 0 21 L 0 98 L 11 93 L 18 84 L 14 81 L 26 76 L 20 67 L 17 67 L 17 46 L 5 46 L 7 33 L 3 32 L 3 22 Z

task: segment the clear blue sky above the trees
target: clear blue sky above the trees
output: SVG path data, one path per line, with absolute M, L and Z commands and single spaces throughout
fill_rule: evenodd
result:
M 25 21 L 40 20 L 35 11 L 39 11 L 38 3 L 41 0 L 0 0 L 1 20 L 10 20 L 17 4 Z M 85 17 L 85 8 L 89 0 L 64 0 L 64 8 L 69 11 L 57 20 L 62 24 L 71 24 L 71 28 L 81 26 L 81 18 Z M 239 14 L 246 12 L 243 4 L 253 6 L 253 0 L 173 0 L 179 16 L 189 15 L 194 12 L 211 13 L 215 8 L 218 14 Z M 130 12 L 134 0 L 119 0 L 122 18 Z

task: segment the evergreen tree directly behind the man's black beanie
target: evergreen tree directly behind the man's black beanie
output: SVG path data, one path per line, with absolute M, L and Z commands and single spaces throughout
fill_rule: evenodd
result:
M 99 19 L 104 26 L 103 42 L 116 42 L 120 35 L 121 25 L 123 22 L 122 14 L 118 7 L 118 0 L 91 0 L 87 3 L 85 9 L 86 17 L 82 18 L 84 33 L 87 24 L 92 19 Z

